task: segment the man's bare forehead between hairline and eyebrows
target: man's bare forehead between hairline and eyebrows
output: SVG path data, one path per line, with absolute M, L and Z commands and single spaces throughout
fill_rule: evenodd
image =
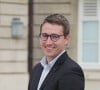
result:
M 42 32 L 46 33 L 63 33 L 63 26 L 58 24 L 44 23 Z

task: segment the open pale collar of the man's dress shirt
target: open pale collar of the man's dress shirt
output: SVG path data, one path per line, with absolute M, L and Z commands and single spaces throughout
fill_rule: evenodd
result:
M 46 56 L 44 56 L 40 63 L 43 67 L 45 66 L 50 66 L 51 68 L 53 67 L 53 65 L 55 64 L 55 62 L 58 60 L 58 58 L 65 52 L 65 50 L 63 50 L 57 57 L 55 57 L 52 61 L 50 61 L 49 63 L 47 63 L 47 60 L 46 60 Z

